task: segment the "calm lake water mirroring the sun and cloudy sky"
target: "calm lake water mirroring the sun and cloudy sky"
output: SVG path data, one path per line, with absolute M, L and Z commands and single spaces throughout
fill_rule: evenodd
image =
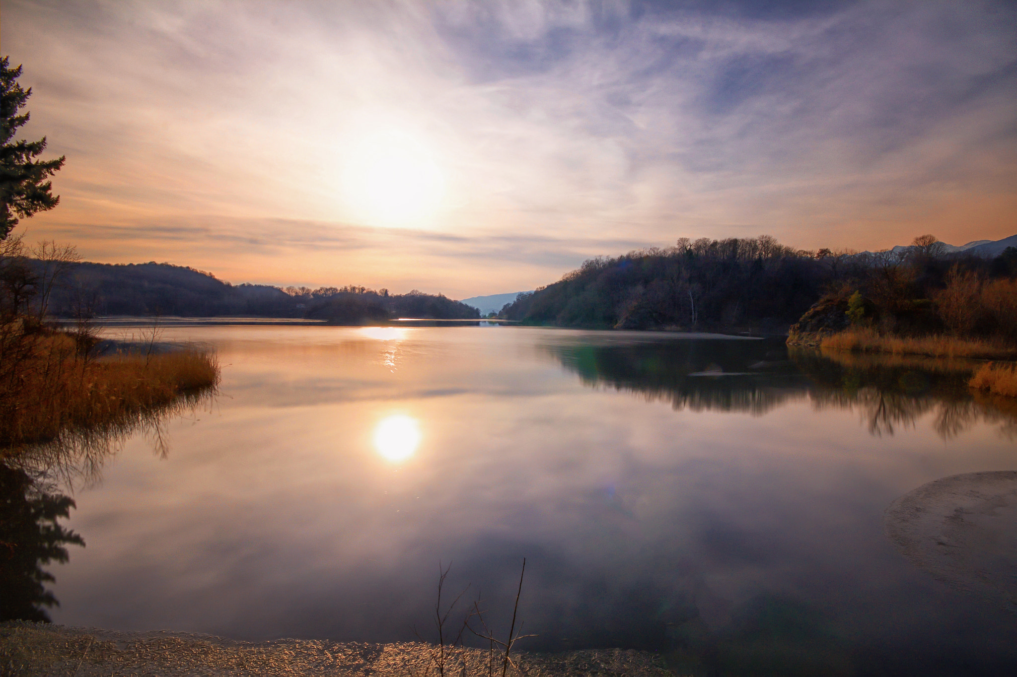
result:
M 498 326 L 162 338 L 215 347 L 220 393 L 74 487 L 86 547 L 49 567 L 57 623 L 430 640 L 451 564 L 442 604 L 469 584 L 457 613 L 479 598 L 503 633 L 526 557 L 538 636 L 520 649 L 764 674 L 1017 665 L 1017 616 L 884 533 L 916 487 L 1017 470 L 1017 408 L 950 365 Z

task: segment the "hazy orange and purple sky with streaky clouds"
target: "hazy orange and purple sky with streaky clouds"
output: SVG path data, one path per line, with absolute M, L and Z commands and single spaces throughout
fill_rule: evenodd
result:
M 2 0 L 27 241 L 451 298 L 770 234 L 1017 234 L 1017 4 Z M 23 230 L 23 229 L 22 229 Z

